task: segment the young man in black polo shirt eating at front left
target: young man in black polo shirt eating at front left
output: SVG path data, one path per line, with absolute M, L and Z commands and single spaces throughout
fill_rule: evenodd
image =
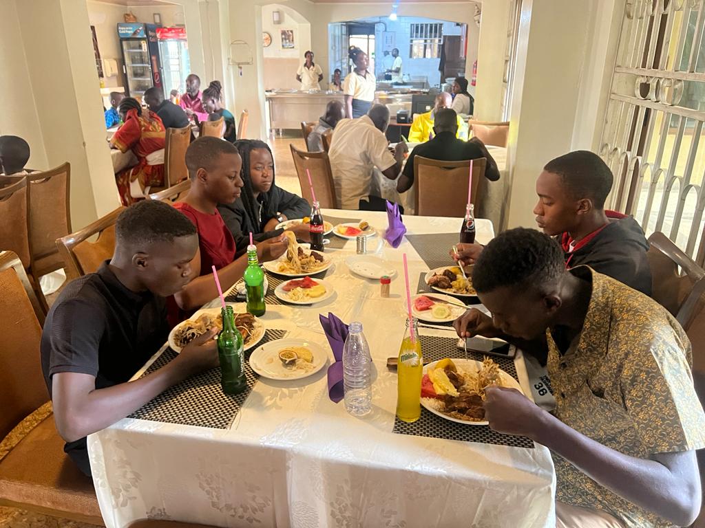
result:
M 121 213 L 115 239 L 111 260 L 61 292 L 42 333 L 56 429 L 66 440 L 64 451 L 89 475 L 88 434 L 218 365 L 212 330 L 168 365 L 128 383 L 168 337 L 165 298 L 188 283 L 198 235 L 178 210 L 147 200 Z

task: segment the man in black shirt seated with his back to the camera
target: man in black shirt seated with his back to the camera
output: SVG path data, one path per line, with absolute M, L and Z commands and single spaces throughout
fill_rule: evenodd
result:
M 458 133 L 458 114 L 455 113 L 455 110 L 441 108 L 436 112 L 434 133 L 436 135 L 433 139 L 415 146 L 409 154 L 397 184 L 399 192 L 408 191 L 414 183 L 414 158 L 416 156 L 442 161 L 466 161 L 487 158 L 485 177 L 492 182 L 499 180 L 497 164 L 477 137 L 468 139 L 467 142 L 455 137 L 455 134 Z

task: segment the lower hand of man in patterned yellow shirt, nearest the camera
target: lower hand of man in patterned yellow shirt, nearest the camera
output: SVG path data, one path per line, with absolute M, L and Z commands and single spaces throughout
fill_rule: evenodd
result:
M 536 440 L 546 412 L 517 389 L 489 386 L 485 389 L 485 420 L 500 433 L 528 436 Z

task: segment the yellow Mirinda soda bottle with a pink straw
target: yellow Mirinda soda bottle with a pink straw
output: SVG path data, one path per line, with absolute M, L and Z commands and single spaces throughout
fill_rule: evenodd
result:
M 415 340 L 409 325 L 413 325 Z M 424 368 L 419 340 L 419 320 L 406 320 L 406 332 L 399 348 L 397 364 L 397 417 L 403 422 L 415 422 L 421 417 L 421 378 Z

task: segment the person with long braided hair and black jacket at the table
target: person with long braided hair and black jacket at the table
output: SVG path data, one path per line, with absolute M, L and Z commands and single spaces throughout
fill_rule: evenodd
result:
M 235 147 L 243 158 L 243 192 L 231 203 L 219 204 L 218 210 L 235 238 L 239 254 L 245 251 L 250 232 L 257 241 L 276 237 L 283 232 L 276 229 L 278 223 L 308 215 L 311 206 L 300 196 L 276 186 L 269 145 L 257 139 L 240 139 Z M 308 225 L 290 230 L 298 239 L 308 240 Z

